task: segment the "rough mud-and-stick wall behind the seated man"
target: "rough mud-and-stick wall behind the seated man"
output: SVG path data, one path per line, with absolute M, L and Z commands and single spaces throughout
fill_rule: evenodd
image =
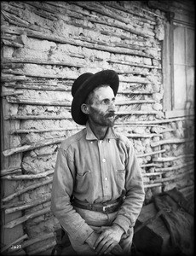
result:
M 146 203 L 174 187 L 193 195 L 193 117 L 165 119 L 163 112 L 166 22 L 164 12 L 142 1 L 2 3 L 3 122 L 10 141 L 2 174 L 6 245 L 17 227 L 23 235 L 14 239 L 21 238 L 29 255 L 47 254 L 55 244 L 56 152 L 83 128 L 72 121 L 70 106 L 72 83 L 85 72 L 119 75 L 116 129 L 134 143 Z M 16 184 L 12 192 L 8 183 Z

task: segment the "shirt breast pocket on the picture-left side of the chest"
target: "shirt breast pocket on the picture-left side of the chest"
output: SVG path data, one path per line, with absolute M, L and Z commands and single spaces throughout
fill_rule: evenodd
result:
M 76 191 L 77 193 L 86 194 L 91 189 L 92 180 L 90 170 L 83 173 L 77 173 L 76 175 Z

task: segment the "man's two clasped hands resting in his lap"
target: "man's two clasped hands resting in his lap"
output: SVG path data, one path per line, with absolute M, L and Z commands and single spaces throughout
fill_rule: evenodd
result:
M 101 227 L 99 230 L 95 230 L 86 242 L 95 250 L 97 255 L 107 254 L 110 253 L 112 249 L 116 249 L 123 233 L 124 230 L 120 226 L 112 224 L 112 226 L 105 226 Z M 120 248 L 121 247 L 119 247 L 119 249 Z

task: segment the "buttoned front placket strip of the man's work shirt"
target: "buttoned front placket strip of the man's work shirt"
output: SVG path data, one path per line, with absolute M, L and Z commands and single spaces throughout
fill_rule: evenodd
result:
M 103 189 L 103 199 L 107 200 L 111 192 L 109 192 L 109 178 L 108 178 L 108 158 L 107 158 L 107 140 L 98 141 L 98 148 L 100 152 L 101 165 L 101 183 Z

